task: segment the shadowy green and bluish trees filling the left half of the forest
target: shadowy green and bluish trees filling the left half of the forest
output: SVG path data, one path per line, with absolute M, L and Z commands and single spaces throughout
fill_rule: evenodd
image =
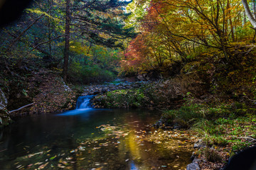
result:
M 113 79 L 119 49 L 135 35 L 132 27 L 124 28 L 129 3 L 33 1 L 21 18 L 1 28 L 1 69 L 5 75 L 17 69 L 61 69 L 65 81 L 68 76 L 76 83 Z

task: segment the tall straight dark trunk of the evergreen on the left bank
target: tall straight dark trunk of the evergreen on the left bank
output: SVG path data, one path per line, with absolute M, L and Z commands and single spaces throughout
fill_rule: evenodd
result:
M 70 0 L 66 0 L 66 16 L 65 16 L 65 47 L 64 47 L 64 63 L 63 63 L 63 80 L 67 81 L 68 75 L 68 53 L 70 47 Z

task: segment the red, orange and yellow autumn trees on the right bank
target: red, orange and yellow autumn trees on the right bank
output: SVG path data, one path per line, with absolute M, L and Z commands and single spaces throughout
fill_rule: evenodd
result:
M 233 47 L 252 40 L 254 33 L 239 0 L 134 1 L 131 6 L 146 7 L 141 17 L 132 16 L 139 35 L 124 54 L 122 71 L 127 74 L 163 72 L 174 62 L 186 64 L 207 53 L 221 53 L 226 62 L 239 65 Z

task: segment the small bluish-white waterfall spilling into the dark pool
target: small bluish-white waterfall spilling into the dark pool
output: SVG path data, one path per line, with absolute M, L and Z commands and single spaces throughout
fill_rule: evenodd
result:
M 73 111 L 66 111 L 64 113 L 60 113 L 58 115 L 78 115 L 78 114 L 82 114 L 82 113 L 86 113 L 87 111 L 92 110 L 92 105 L 90 103 L 90 100 L 93 98 L 94 96 L 80 96 L 78 97 L 78 101 L 77 101 L 77 106 L 75 108 L 75 110 Z

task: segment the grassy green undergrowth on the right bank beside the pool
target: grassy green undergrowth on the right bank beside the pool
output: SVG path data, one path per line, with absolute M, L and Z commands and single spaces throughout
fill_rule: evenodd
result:
M 164 111 L 162 118 L 169 125 L 191 128 L 209 147 L 239 150 L 256 142 L 255 108 L 244 103 L 210 105 L 193 103 L 192 98 L 177 110 Z

